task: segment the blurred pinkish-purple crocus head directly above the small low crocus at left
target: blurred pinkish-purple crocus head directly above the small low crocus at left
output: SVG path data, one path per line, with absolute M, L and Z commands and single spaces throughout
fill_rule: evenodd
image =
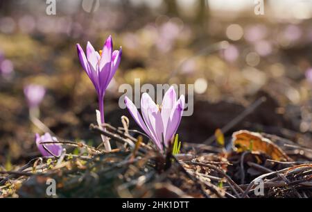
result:
M 30 108 L 35 108 L 39 106 L 45 93 L 46 93 L 46 90 L 42 85 L 31 84 L 31 85 L 27 85 L 24 88 L 24 94 L 26 96 L 26 99 L 28 101 L 28 106 Z

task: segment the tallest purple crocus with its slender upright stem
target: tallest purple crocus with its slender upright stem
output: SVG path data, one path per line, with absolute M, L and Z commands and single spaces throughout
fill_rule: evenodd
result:
M 120 60 L 121 48 L 112 51 L 112 37 L 109 36 L 104 44 L 103 50 L 95 51 L 90 42 L 87 42 L 87 56 L 77 44 L 77 51 L 81 65 L 91 79 L 98 94 L 98 107 L 101 112 L 101 122 L 104 123 L 103 98 L 107 85 L 112 80 Z

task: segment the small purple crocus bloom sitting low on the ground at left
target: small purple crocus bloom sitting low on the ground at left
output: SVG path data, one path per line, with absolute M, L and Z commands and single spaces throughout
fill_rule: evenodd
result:
M 55 137 L 52 137 L 50 133 L 45 133 L 43 136 L 40 136 L 38 133 L 36 133 L 35 142 L 42 156 L 60 156 L 62 154 L 62 145 L 60 143 L 40 144 L 40 142 L 52 141 L 58 142 L 58 140 Z M 46 147 L 46 149 L 49 149 L 49 152 L 46 151 L 44 147 Z

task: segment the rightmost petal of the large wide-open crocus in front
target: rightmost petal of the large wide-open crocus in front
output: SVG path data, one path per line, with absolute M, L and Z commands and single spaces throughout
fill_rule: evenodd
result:
M 168 125 L 166 128 L 166 135 L 165 135 L 165 145 L 168 145 L 168 142 L 174 136 L 175 132 L 177 131 L 177 127 L 179 127 L 181 117 L 184 110 L 185 99 L 184 95 L 180 96 L 180 99 L 177 100 L 175 106 L 173 107 L 173 111 L 170 115 L 170 119 L 168 121 Z

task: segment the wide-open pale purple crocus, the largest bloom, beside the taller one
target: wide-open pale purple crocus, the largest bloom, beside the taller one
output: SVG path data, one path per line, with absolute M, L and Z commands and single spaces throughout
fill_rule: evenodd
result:
M 135 104 L 128 97 L 125 97 L 125 105 L 130 114 L 160 150 L 168 147 L 171 138 L 177 131 L 184 110 L 184 103 L 184 95 L 181 95 L 180 99 L 177 100 L 173 86 L 165 93 L 161 108 L 147 93 L 144 93 L 141 97 L 142 119 Z

